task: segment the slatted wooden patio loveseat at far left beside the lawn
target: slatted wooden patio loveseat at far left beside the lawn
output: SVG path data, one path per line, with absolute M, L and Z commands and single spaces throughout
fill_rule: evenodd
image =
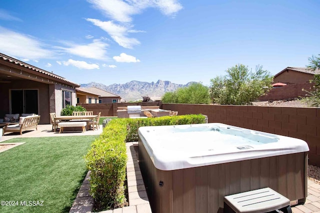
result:
M 24 117 L 24 119 L 21 119 L 23 121 L 21 121 L 21 123 L 17 124 L 17 123 L 7 123 L 7 125 L 5 127 L 3 127 L 3 135 L 5 132 L 19 132 L 20 135 L 22 135 L 22 132 L 26 131 L 26 130 L 30 130 L 35 128 L 36 130 L 38 130 L 38 123 L 40 121 L 40 116 L 36 115 L 36 116 L 27 116 Z

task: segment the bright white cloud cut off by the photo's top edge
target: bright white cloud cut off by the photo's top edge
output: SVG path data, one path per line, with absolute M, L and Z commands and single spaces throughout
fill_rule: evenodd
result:
M 175 15 L 182 5 L 178 0 L 88 0 L 105 16 L 119 22 L 131 22 L 132 15 L 148 7 L 158 8 L 164 15 Z

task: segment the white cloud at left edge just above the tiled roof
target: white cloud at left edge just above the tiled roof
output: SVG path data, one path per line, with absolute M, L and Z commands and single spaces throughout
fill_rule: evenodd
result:
M 36 38 L 0 27 L 0 52 L 17 58 L 51 58 L 54 53 Z

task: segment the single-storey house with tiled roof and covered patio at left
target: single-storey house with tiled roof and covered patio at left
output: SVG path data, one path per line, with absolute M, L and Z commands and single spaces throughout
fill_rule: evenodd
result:
M 50 123 L 49 113 L 60 115 L 76 104 L 79 84 L 0 53 L 0 118 L 4 114 L 35 113 L 40 124 Z

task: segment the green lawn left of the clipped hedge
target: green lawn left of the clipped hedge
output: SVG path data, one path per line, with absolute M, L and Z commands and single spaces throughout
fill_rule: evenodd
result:
M 17 138 L 25 142 L 0 153 L 1 213 L 68 212 L 87 173 L 83 156 L 97 136 Z M 20 202 L 43 201 L 43 206 L 20 206 Z M 35 203 L 36 204 L 36 203 Z

